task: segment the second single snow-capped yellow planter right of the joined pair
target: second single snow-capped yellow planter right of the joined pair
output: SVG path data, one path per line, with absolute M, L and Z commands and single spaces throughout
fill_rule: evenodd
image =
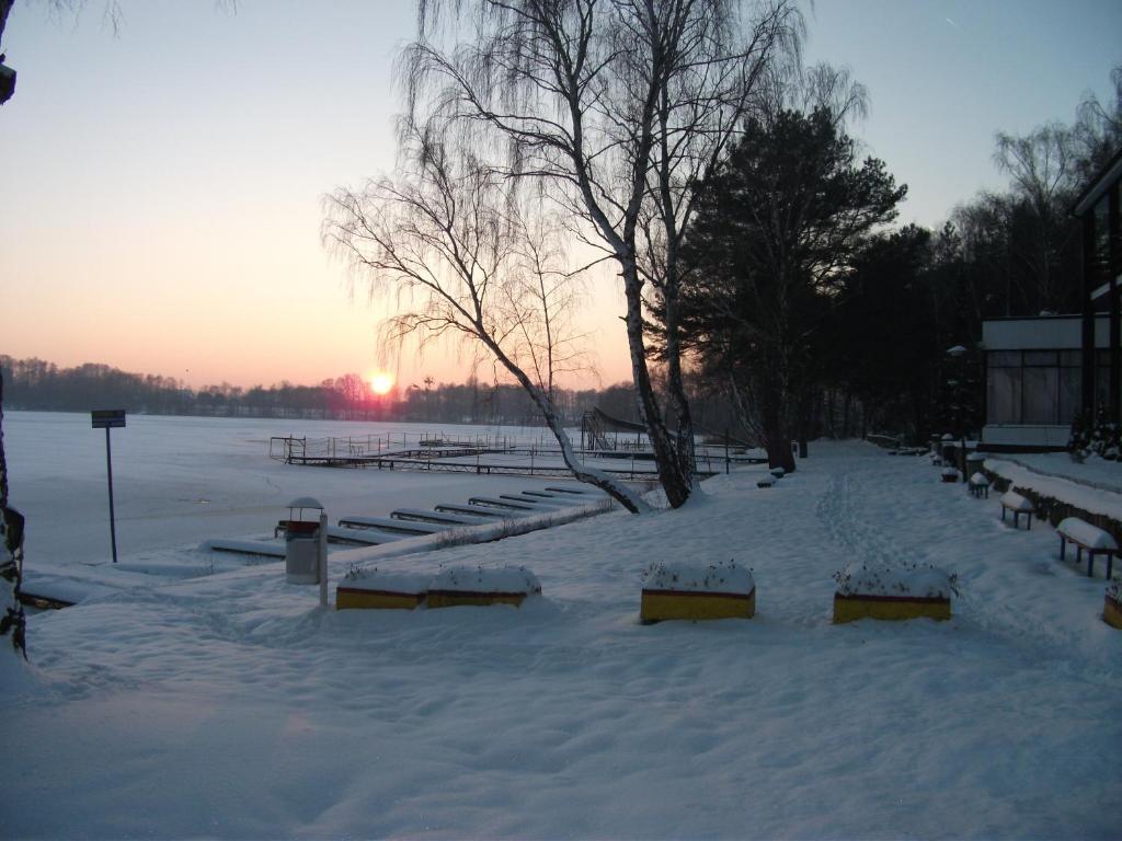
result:
M 950 619 L 955 576 L 929 564 L 855 563 L 834 573 L 835 623 L 857 619 Z

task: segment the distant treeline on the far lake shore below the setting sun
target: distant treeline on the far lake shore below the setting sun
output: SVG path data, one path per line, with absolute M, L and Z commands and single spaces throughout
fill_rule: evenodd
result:
M 123 408 L 148 415 L 206 417 L 277 417 L 333 420 L 396 420 L 410 423 L 509 424 L 540 426 L 541 413 L 516 385 L 435 382 L 374 394 L 357 373 L 324 380 L 318 386 L 279 382 L 241 388 L 223 382 L 192 389 L 174 377 L 130 373 L 105 364 L 59 368 L 42 359 L 0 354 L 4 409 L 89 412 Z M 702 427 L 725 432 L 732 418 L 719 400 L 698 396 Z M 557 401 L 565 420 L 578 425 L 585 412 L 599 407 L 625 420 L 636 420 L 635 394 L 629 382 L 600 389 L 559 389 Z

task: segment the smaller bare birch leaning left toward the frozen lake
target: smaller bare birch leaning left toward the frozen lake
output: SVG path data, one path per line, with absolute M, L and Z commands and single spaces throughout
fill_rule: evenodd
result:
M 622 481 L 577 458 L 554 403 L 554 378 L 579 357 L 567 331 L 571 272 L 540 218 L 470 153 L 450 155 L 431 136 L 410 138 L 399 178 L 327 198 L 324 241 L 373 294 L 396 295 L 384 338 L 468 338 L 486 348 L 542 413 L 572 474 L 627 510 L 646 508 Z

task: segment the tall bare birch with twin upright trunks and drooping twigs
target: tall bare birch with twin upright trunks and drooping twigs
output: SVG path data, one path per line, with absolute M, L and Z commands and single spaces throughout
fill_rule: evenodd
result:
M 404 54 L 408 118 L 505 148 L 572 232 L 615 261 L 640 417 L 671 506 L 693 488 L 679 252 L 693 185 L 724 157 L 761 71 L 794 50 L 790 0 L 421 0 Z M 458 26 L 475 37 L 460 39 Z M 665 325 L 671 431 L 647 367 L 644 306 Z

